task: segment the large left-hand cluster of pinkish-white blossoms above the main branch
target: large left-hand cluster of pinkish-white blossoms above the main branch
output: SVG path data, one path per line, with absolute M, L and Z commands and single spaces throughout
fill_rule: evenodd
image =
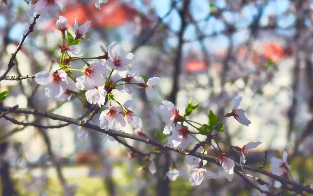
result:
M 133 103 L 127 101 L 124 105 L 120 104 L 114 98 L 112 90 L 125 90 L 132 94 L 136 89 L 144 88 L 147 99 L 151 101 L 157 95 L 155 86 L 160 78 L 152 77 L 145 82 L 139 76 L 138 70 L 128 70 L 126 66 L 133 62 L 134 55 L 126 54 L 124 48 L 116 42 L 108 46 L 105 55 L 95 57 L 93 61 L 86 62 L 84 58 L 80 58 L 84 50 L 79 43 L 85 39 L 90 21 L 79 26 L 76 18 L 75 37 L 68 31 L 67 19 L 63 16 L 59 16 L 55 26 L 61 31 L 63 38 L 63 43 L 59 45 L 61 68 L 52 73 L 40 71 L 35 75 L 35 81 L 40 85 L 45 85 L 45 95 L 49 98 L 64 100 L 64 97 L 70 98 L 74 94 L 85 106 L 89 103 L 102 107 L 110 101 L 110 106 L 102 111 L 99 117 L 102 129 L 107 131 L 116 126 L 122 128 L 126 126 L 126 122 L 134 128 L 139 128 L 140 117 L 129 109 Z M 71 61 L 75 60 L 83 60 L 85 65 L 81 69 L 73 69 Z M 127 70 L 125 77 L 121 77 L 119 72 Z M 75 76 L 74 71 L 81 72 L 82 76 Z M 115 101 L 118 106 L 112 106 L 111 101 Z

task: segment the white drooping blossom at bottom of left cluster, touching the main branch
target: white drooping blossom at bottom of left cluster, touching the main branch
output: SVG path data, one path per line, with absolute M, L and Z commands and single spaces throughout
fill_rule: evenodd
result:
M 126 122 L 120 112 L 123 111 L 121 106 L 110 106 L 109 110 L 102 111 L 100 114 L 100 128 L 105 131 L 113 126 L 120 125 L 126 126 Z

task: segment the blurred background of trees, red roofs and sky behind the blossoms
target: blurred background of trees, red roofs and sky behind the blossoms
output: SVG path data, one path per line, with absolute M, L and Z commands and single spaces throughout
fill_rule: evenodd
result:
M 282 157 L 286 150 L 295 181 L 300 177 L 305 182 L 313 180 L 312 1 L 108 0 L 101 4 L 101 10 L 95 8 L 93 0 L 61 2 L 66 11 L 59 15 L 67 18 L 72 34 L 76 17 L 79 25 L 91 21 L 86 34 L 91 40 L 80 42 L 84 57 L 104 55 L 103 49 L 117 41 L 127 53 L 134 53 L 129 68 L 140 70 L 145 80 L 161 78 L 159 96 L 151 102 L 144 90 L 132 95 L 112 91 L 121 103 L 134 100 L 132 110 L 140 114 L 141 130 L 149 137 L 158 139 L 165 126 L 158 111 L 164 99 L 180 111 L 191 97 L 193 103 L 199 101 L 191 120 L 205 123 L 209 110 L 218 116 L 231 112 L 233 98 L 241 95 L 240 107 L 252 123 L 246 127 L 233 118 L 223 119 L 223 140 L 239 147 L 261 141 L 247 157 L 246 163 L 255 166 L 261 166 L 264 150 L 268 151 L 268 159 Z M 33 20 L 33 13 L 26 12 L 27 5 L 21 0 L 0 4 L 1 75 Z M 57 44 L 62 38 L 55 28 L 56 20 L 37 20 L 9 76 L 59 68 Z M 83 65 L 79 61 L 71 63 L 76 69 Z M 18 104 L 72 118 L 83 118 L 88 112 L 75 97 L 69 102 L 67 98 L 47 98 L 44 87 L 31 79 L 2 80 L 0 91 L 4 90 L 9 92 L 5 106 Z M 60 124 L 31 115 L 10 117 L 46 126 Z M 141 158 L 129 159 L 129 149 L 99 132 L 74 125 L 40 129 L 14 125 L 3 118 L 0 121 L 0 187 L 7 191 L 2 192 L 5 196 L 254 194 L 236 175 L 231 183 L 222 177 L 205 180 L 198 187 L 192 187 L 184 178 L 169 181 L 164 176 L 172 161 L 165 154 L 156 159 L 155 174 L 139 171 Z M 130 126 L 124 131 L 134 133 Z M 127 142 L 143 151 L 152 149 L 140 142 Z M 229 149 L 228 154 L 239 161 L 235 152 Z M 171 155 L 183 167 L 184 157 Z M 223 172 L 212 163 L 206 167 Z M 269 171 L 269 163 L 265 169 Z M 270 178 L 260 177 L 273 183 Z

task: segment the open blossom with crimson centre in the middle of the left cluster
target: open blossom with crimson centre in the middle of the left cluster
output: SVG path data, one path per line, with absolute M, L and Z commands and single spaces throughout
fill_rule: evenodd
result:
M 107 71 L 105 66 L 105 60 L 89 61 L 90 66 L 85 65 L 83 67 L 83 81 L 90 86 L 103 86 L 105 83 L 105 77 L 103 74 Z

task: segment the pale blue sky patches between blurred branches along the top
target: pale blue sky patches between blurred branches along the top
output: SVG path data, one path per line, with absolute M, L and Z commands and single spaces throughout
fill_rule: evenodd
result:
M 109 0 L 110 1 L 110 0 Z M 139 4 L 139 0 L 135 3 Z M 156 8 L 156 13 L 163 17 L 168 10 L 170 9 L 170 0 L 152 0 L 152 4 Z M 105 4 L 103 4 L 105 6 Z M 216 4 L 214 5 L 219 8 L 225 8 L 227 4 L 223 0 L 216 1 Z M 261 21 L 266 20 L 266 17 L 270 14 L 276 13 L 277 15 L 280 15 L 281 13 L 285 12 L 286 9 L 289 6 L 288 0 L 276 0 L 276 1 L 269 1 L 268 6 L 264 9 L 264 16 Z M 210 6 L 208 3 L 208 0 L 192 0 L 191 1 L 191 14 L 196 20 L 201 20 L 207 16 L 207 14 L 210 12 Z M 257 10 L 253 6 L 246 6 L 243 9 L 243 12 L 241 15 L 239 14 L 233 14 L 230 12 L 225 12 L 223 15 L 224 18 L 226 18 L 227 21 L 231 23 L 236 23 L 238 27 L 245 27 L 247 24 L 251 23 L 253 17 L 257 14 Z M 30 18 L 31 19 L 31 18 Z M 180 17 L 176 10 L 173 10 L 172 13 L 167 16 L 164 20 L 166 23 L 169 24 L 172 31 L 177 32 L 180 29 L 181 21 Z M 286 16 L 279 19 L 279 25 L 281 27 L 285 27 L 290 25 L 290 23 L 293 23 L 295 21 L 295 18 L 293 16 Z M 3 28 L 6 25 L 5 18 L 0 14 L 0 28 Z M 214 31 L 221 31 L 223 30 L 224 24 L 218 20 L 216 20 L 214 17 L 210 18 L 208 22 L 202 22 L 199 23 L 199 26 L 202 30 L 205 31 L 206 34 L 212 34 Z M 10 36 L 12 39 L 20 40 L 23 33 L 27 30 L 26 24 L 16 24 L 13 29 L 10 32 Z M 187 29 L 184 34 L 184 38 L 187 40 L 195 40 L 195 27 L 193 25 L 188 25 Z M 234 36 L 235 43 L 240 43 L 244 41 L 249 35 L 249 32 L 242 32 L 238 33 Z M 206 39 L 205 42 L 208 45 L 208 49 L 212 50 L 212 46 L 218 46 L 220 47 L 226 47 L 228 44 L 228 41 L 226 37 L 224 36 L 218 36 L 214 39 Z M 177 44 L 177 39 L 169 39 L 169 43 L 175 46 Z

